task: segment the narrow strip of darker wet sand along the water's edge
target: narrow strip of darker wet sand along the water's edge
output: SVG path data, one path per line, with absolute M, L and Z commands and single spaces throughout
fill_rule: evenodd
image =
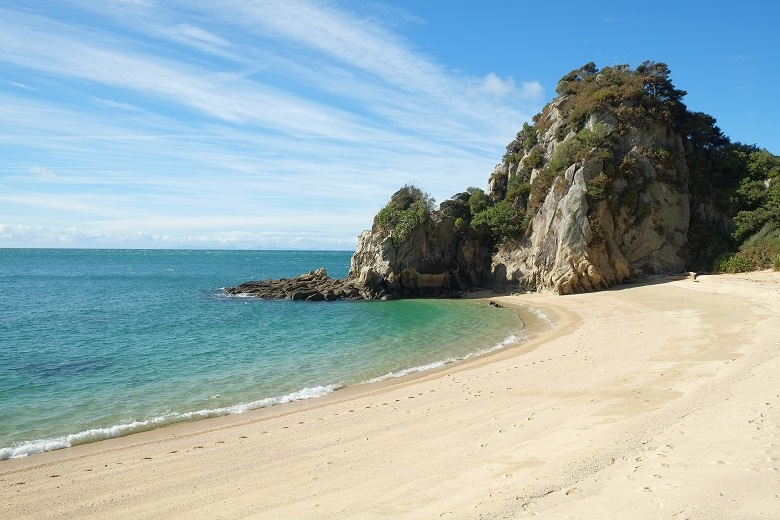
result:
M 476 301 L 476 302 L 484 302 L 487 305 L 490 300 L 495 298 L 500 298 L 501 296 L 502 296 L 501 294 L 494 294 L 488 290 L 480 290 L 467 295 L 464 299 L 470 301 Z M 198 415 L 204 415 L 203 417 L 197 417 L 194 419 L 185 419 L 185 420 L 173 420 L 172 422 L 164 423 L 156 427 L 153 426 L 148 429 L 130 431 L 129 433 L 95 439 L 87 442 L 80 442 L 78 444 L 73 444 L 70 446 L 63 446 L 60 448 L 54 448 L 45 451 L 30 453 L 20 457 L 10 457 L 7 459 L 0 459 L 0 472 L 2 472 L 4 466 L 6 466 L 5 463 L 10 463 L 12 461 L 25 461 L 27 459 L 33 458 L 34 460 L 29 460 L 28 462 L 36 463 L 39 459 L 57 460 L 59 458 L 68 458 L 69 456 L 71 456 L 70 455 L 71 450 L 77 450 L 79 452 L 79 455 L 81 455 L 81 454 L 90 453 L 92 451 L 101 451 L 102 449 L 105 449 L 109 445 L 110 447 L 115 447 L 115 446 L 125 446 L 127 444 L 134 444 L 135 442 L 154 441 L 169 435 L 173 436 L 181 433 L 191 433 L 194 431 L 209 430 L 213 427 L 224 427 L 230 424 L 241 423 L 244 421 L 260 420 L 266 417 L 275 416 L 277 413 L 286 414 L 286 413 L 291 413 L 292 411 L 295 410 L 308 409 L 310 407 L 321 406 L 333 401 L 340 401 L 342 399 L 354 398 L 361 394 L 371 393 L 376 391 L 377 389 L 385 388 L 396 384 L 408 384 L 418 378 L 425 377 L 426 375 L 435 375 L 441 371 L 449 370 L 462 364 L 469 364 L 469 363 L 476 362 L 478 360 L 482 360 L 483 358 L 490 358 L 491 356 L 494 356 L 501 351 L 524 348 L 525 344 L 528 343 L 530 339 L 533 339 L 539 334 L 542 334 L 547 330 L 552 329 L 556 325 L 546 315 L 544 315 L 537 309 L 533 309 L 529 307 L 528 310 L 526 311 L 524 306 L 516 305 L 516 304 L 513 305 L 511 303 L 506 306 L 514 310 L 514 312 L 517 313 L 520 321 L 523 323 L 523 328 L 521 329 L 521 332 L 523 333 L 523 337 L 516 338 L 515 341 L 513 342 L 507 343 L 505 340 L 505 342 L 494 345 L 493 347 L 488 347 L 483 351 L 470 353 L 464 358 L 457 358 L 457 359 L 447 358 L 444 360 L 437 360 L 429 364 L 429 365 L 440 364 L 439 366 L 431 366 L 430 368 L 426 368 L 429 365 L 423 365 L 420 367 L 409 367 L 407 369 L 403 369 L 399 371 L 399 372 L 408 371 L 408 373 L 403 373 L 401 375 L 396 375 L 395 373 L 389 373 L 384 376 L 380 376 L 378 378 L 373 378 L 371 380 L 360 381 L 358 383 L 336 387 L 331 391 L 322 395 L 298 398 L 290 401 L 283 401 L 276 404 L 270 404 L 267 406 L 249 408 L 245 411 L 228 412 L 224 414 L 217 414 L 216 413 L 217 409 L 198 410 L 196 412 L 190 412 L 190 413 L 196 417 Z M 527 334 L 528 337 L 526 337 Z M 292 394 L 289 395 L 299 394 L 305 390 L 312 390 L 312 389 L 304 388 L 296 392 L 293 392 Z M 287 396 L 270 397 L 264 400 L 282 399 L 284 397 Z M 229 406 L 227 408 L 238 408 L 240 406 L 242 406 L 242 404 Z M 213 415 L 211 414 L 211 412 L 214 412 Z M 153 422 L 154 419 L 156 418 L 152 418 L 149 421 Z M 212 422 L 214 423 L 213 426 L 210 424 Z M 113 425 L 110 428 L 117 428 L 122 426 L 125 425 L 122 424 Z M 181 432 L 179 430 L 181 430 Z M 64 437 L 78 436 L 78 435 L 83 435 L 85 433 L 88 432 L 77 432 L 75 434 L 68 434 L 67 436 Z M 27 444 L 32 444 L 34 442 L 42 442 L 42 441 L 56 441 L 60 438 L 63 437 L 51 438 L 51 439 L 38 439 L 36 441 L 29 441 Z M 58 453 L 61 454 L 62 457 L 56 457 L 53 455 L 50 457 L 46 457 L 46 455 L 58 454 Z M 12 464 L 8 464 L 8 465 L 12 465 Z M 18 463 L 19 467 L 24 467 L 25 465 L 26 464 Z

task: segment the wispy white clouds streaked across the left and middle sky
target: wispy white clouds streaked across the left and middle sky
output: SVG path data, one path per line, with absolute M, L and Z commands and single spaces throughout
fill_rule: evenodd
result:
M 483 182 L 543 97 L 334 3 L 70 5 L 0 8 L 17 87 L 0 90 L 0 245 L 72 226 L 89 243 L 341 247 L 406 182 L 439 200 Z

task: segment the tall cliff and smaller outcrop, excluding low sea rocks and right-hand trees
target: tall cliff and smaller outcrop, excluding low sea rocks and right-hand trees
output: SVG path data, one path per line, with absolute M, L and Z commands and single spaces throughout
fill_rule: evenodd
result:
M 478 285 L 569 294 L 681 272 L 691 203 L 684 92 L 665 65 L 648 63 L 602 73 L 588 64 L 558 91 L 507 148 L 487 193 L 446 201 L 400 243 L 375 222 L 350 279 L 375 295 Z

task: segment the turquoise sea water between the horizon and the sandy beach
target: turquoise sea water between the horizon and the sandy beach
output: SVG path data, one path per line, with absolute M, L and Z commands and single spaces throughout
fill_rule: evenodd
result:
M 227 297 L 351 252 L 0 249 L 0 460 L 317 397 L 515 341 L 466 300 Z

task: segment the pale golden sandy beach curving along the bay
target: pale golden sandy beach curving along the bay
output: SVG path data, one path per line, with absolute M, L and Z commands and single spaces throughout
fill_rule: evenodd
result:
M 494 297 L 556 326 L 393 384 L 0 462 L 0 518 L 780 518 L 780 273 Z

